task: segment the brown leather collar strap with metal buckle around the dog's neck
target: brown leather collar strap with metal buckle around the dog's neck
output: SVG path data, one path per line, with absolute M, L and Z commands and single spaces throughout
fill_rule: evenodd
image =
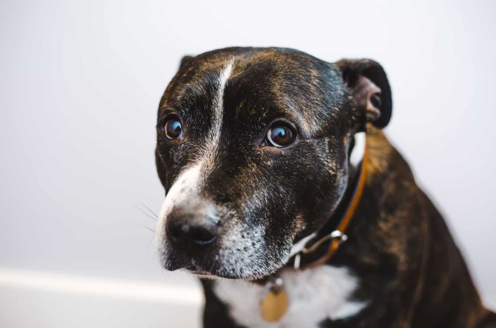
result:
M 348 205 L 348 208 L 346 209 L 343 219 L 339 221 L 335 230 L 325 235 L 324 237 L 320 238 L 318 241 L 313 243 L 309 248 L 303 248 L 300 252 L 298 252 L 295 255 L 295 263 L 294 263 L 295 269 L 310 269 L 326 263 L 336 253 L 339 246 L 348 239 L 348 236 L 345 233 L 346 233 L 346 229 L 348 229 L 348 226 L 350 225 L 351 219 L 355 215 L 355 211 L 357 210 L 358 204 L 360 204 L 360 200 L 362 199 L 362 194 L 365 187 L 365 177 L 367 172 L 368 159 L 369 159 L 369 152 L 367 150 L 367 143 L 366 143 L 364 150 L 364 157 L 362 159 L 362 165 L 360 169 L 360 176 L 358 178 L 357 185 L 355 186 L 355 191 L 353 192 L 353 196 L 351 198 L 350 204 Z M 309 254 L 315 251 L 323 242 L 329 239 L 331 239 L 331 244 L 327 252 L 319 259 L 305 265 L 304 268 L 300 268 L 301 254 L 302 253 Z

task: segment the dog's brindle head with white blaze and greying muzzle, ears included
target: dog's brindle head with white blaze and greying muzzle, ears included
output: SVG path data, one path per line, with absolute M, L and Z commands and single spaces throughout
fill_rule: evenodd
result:
M 273 48 L 183 60 L 157 121 L 164 267 L 245 279 L 279 269 L 339 204 L 354 133 L 385 125 L 390 108 L 368 60 Z

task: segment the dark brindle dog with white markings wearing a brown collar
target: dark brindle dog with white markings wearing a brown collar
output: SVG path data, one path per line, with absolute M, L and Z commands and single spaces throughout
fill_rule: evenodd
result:
M 156 241 L 201 278 L 204 327 L 496 327 L 381 130 L 391 111 L 373 60 L 183 58 L 158 110 Z

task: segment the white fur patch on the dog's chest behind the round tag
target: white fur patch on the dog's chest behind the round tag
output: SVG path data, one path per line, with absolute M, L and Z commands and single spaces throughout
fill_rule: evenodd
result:
M 267 294 L 264 286 L 243 280 L 212 281 L 217 297 L 230 308 L 230 316 L 240 325 L 260 328 L 317 327 L 325 320 L 354 316 L 367 302 L 349 300 L 358 279 L 347 268 L 320 266 L 295 272 L 283 271 L 284 290 L 289 308 L 277 323 L 266 322 L 260 314 L 260 300 Z

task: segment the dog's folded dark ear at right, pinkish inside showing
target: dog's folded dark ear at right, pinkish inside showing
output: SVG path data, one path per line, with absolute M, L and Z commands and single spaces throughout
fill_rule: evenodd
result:
M 379 63 L 370 59 L 342 59 L 335 63 L 350 88 L 359 118 L 383 128 L 392 111 L 391 88 Z

